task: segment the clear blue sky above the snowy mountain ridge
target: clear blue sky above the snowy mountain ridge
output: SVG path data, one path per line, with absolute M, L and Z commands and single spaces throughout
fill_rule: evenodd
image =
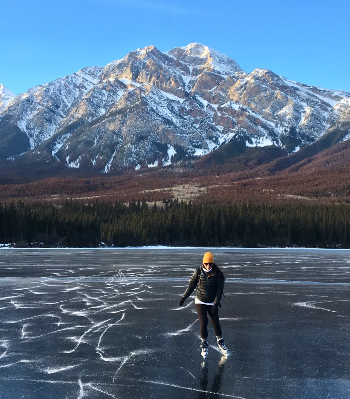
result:
M 18 94 L 138 47 L 197 41 L 247 72 L 350 92 L 349 17 L 348 0 L 3 0 L 0 83 Z

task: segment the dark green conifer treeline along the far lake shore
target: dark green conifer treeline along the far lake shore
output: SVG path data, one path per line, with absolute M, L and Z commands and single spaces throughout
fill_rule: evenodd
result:
M 0 204 L 0 243 L 89 247 L 134 245 L 350 247 L 350 207 L 146 201 Z

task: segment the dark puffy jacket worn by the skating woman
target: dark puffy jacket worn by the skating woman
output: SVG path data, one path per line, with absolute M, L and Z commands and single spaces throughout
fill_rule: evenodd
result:
M 220 273 L 218 273 L 215 266 L 213 266 L 213 269 L 208 274 L 208 277 L 201 267 L 200 269 L 196 269 L 194 271 L 191 280 L 188 283 L 188 287 L 182 296 L 185 299 L 188 298 L 197 287 L 196 297 L 200 301 L 207 303 L 214 302 L 220 306 L 220 300 L 223 293 L 223 284 L 223 277 Z

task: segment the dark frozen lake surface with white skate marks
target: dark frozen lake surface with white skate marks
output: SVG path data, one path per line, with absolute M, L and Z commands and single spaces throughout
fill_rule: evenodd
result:
M 0 397 L 350 397 L 350 252 L 212 249 L 227 359 L 200 356 L 207 249 L 0 249 Z

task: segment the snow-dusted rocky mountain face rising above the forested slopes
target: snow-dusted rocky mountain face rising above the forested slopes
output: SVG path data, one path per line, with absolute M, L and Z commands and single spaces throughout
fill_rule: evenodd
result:
M 349 93 L 246 73 L 200 43 L 137 49 L 6 101 L 0 156 L 101 172 L 166 165 L 233 139 L 291 153 L 350 120 Z

